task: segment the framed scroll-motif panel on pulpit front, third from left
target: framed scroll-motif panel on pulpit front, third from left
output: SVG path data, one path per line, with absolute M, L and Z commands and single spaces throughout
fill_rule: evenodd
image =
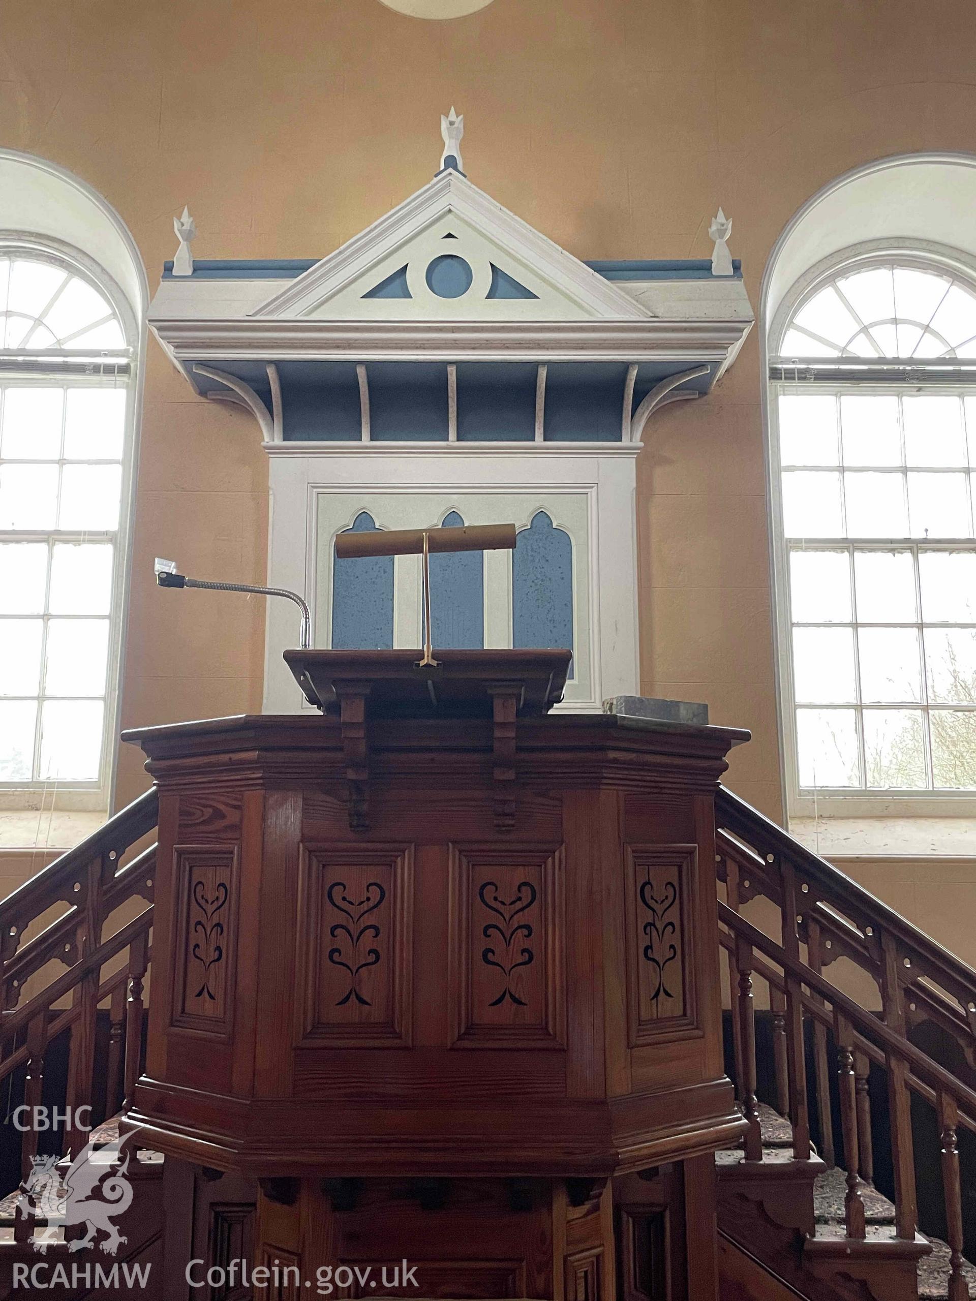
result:
M 452 846 L 455 1047 L 565 1042 L 562 848 Z

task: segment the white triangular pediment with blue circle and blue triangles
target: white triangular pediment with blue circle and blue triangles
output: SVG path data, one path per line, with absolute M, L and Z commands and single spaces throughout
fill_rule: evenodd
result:
M 448 170 L 251 312 L 397 321 L 632 320 L 651 312 Z

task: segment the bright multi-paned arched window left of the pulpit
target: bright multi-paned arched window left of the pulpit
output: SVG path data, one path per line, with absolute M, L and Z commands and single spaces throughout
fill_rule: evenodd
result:
M 104 807 L 138 325 L 87 259 L 0 237 L 0 787 Z

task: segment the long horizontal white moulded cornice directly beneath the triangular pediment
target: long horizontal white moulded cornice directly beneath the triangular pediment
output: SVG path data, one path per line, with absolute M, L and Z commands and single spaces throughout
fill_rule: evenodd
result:
M 717 362 L 751 320 L 328 321 L 174 320 L 152 330 L 178 362 Z

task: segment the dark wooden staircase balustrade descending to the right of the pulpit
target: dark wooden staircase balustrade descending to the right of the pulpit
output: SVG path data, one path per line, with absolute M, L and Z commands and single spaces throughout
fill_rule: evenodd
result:
M 804 1023 L 811 1024 L 820 1155 L 833 1166 L 834 1147 L 842 1154 L 850 1240 L 865 1239 L 861 1188 L 872 1183 L 874 1174 L 871 1066 L 880 1067 L 888 1081 L 894 1231 L 901 1240 L 915 1239 L 919 1219 L 912 1094 L 936 1108 L 950 1248 L 949 1298 L 968 1298 L 962 1271 L 958 1131 L 963 1125 L 976 1132 L 976 1092 L 912 1045 L 908 1030 L 933 1021 L 972 1064 L 976 972 L 731 792 L 721 792 L 716 817 L 716 864 L 727 900 L 718 903 L 720 942 L 729 961 L 737 1092 L 750 1121 L 746 1160 L 764 1159 L 752 989 L 759 978 L 769 991 L 776 1094 L 793 1127 L 794 1160 L 812 1157 Z M 743 905 L 757 898 L 777 909 L 778 939 L 742 916 Z M 826 978 L 824 971 L 842 956 L 872 978 L 880 1011 L 865 1010 Z M 834 1134 L 830 1105 L 832 1038 L 837 1051 L 839 1136 Z

